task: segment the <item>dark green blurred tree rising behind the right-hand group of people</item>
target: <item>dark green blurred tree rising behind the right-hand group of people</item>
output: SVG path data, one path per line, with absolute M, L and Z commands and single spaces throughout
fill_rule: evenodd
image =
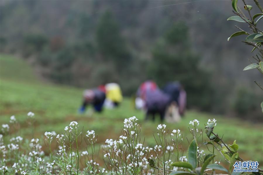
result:
M 199 66 L 200 58 L 191 51 L 188 27 L 175 23 L 155 46 L 148 76 L 160 86 L 180 81 L 188 94 L 188 105 L 210 110 L 212 86 L 207 71 Z

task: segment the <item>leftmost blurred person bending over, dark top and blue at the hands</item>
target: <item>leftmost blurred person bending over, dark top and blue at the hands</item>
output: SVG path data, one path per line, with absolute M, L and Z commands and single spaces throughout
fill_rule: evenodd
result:
M 105 92 L 100 88 L 87 89 L 83 93 L 84 101 L 79 109 L 80 113 L 83 113 L 88 104 L 92 104 L 94 110 L 97 112 L 102 112 L 103 104 L 106 98 Z

